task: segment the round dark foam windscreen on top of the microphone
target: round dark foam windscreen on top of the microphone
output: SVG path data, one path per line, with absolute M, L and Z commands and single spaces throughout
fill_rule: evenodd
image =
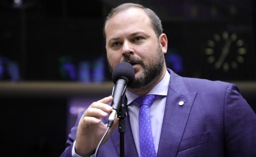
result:
M 112 80 L 114 84 L 116 84 L 116 81 L 120 79 L 121 77 L 125 77 L 128 79 L 128 85 L 131 84 L 134 81 L 135 78 L 135 72 L 132 67 L 132 65 L 128 62 L 120 62 L 118 63 L 112 73 Z

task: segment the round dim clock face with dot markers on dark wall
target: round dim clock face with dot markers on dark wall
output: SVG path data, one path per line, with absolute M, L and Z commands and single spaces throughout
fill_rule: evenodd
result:
M 214 34 L 213 38 L 207 41 L 205 48 L 207 62 L 212 64 L 215 70 L 224 72 L 237 70 L 238 66 L 245 62 L 243 56 L 246 53 L 244 40 L 239 39 L 236 33 L 229 34 L 227 31 Z

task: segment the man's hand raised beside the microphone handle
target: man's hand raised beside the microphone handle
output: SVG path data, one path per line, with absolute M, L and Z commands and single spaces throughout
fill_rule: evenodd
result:
M 107 130 L 107 124 L 101 121 L 101 117 L 107 117 L 108 113 L 112 111 L 112 107 L 107 105 L 112 99 L 113 97 L 109 96 L 92 103 L 82 115 L 76 133 L 76 154 L 83 157 L 94 154 L 102 136 Z M 102 144 L 108 140 L 117 124 L 118 118 L 115 119 L 113 126 L 110 128 Z

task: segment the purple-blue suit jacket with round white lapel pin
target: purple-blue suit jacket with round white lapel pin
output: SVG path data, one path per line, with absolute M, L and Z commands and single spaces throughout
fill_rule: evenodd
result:
M 256 115 L 236 85 L 178 76 L 168 69 L 170 83 L 157 157 L 256 157 Z M 180 106 L 178 103 L 184 102 Z M 71 156 L 81 115 L 71 129 L 61 156 Z M 107 118 L 103 119 L 107 123 Z M 138 157 L 129 115 L 125 156 Z M 98 157 L 120 156 L 116 129 Z

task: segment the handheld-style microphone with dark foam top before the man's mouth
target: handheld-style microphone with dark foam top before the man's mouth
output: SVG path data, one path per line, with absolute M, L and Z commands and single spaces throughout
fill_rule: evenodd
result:
M 112 73 L 112 80 L 116 86 L 113 88 L 113 100 L 111 103 L 113 110 L 108 118 L 108 126 L 111 127 L 113 125 L 122 99 L 125 96 L 127 86 L 129 86 L 134 79 L 135 72 L 130 63 L 120 62 L 115 66 Z

